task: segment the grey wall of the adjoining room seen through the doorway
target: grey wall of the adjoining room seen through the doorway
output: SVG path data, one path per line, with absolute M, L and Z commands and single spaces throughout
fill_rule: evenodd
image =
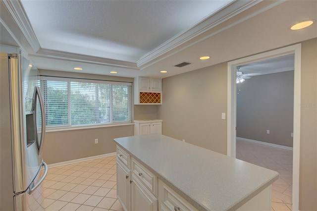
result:
M 293 147 L 294 71 L 254 76 L 240 89 L 237 137 Z

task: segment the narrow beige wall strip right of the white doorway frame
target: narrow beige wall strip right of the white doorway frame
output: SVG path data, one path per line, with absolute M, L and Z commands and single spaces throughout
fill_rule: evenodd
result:
M 300 210 L 317 211 L 317 38 L 302 42 Z

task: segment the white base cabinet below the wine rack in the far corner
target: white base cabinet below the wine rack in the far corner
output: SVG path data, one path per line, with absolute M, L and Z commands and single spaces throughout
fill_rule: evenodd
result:
M 162 134 L 161 119 L 134 120 L 134 135 Z

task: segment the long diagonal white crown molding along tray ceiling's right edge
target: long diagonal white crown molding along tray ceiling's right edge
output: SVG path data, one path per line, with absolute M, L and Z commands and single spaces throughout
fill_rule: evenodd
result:
M 229 20 L 230 18 L 236 16 L 237 14 L 251 8 L 252 6 L 262 2 L 263 0 L 251 0 L 251 1 L 233 1 L 231 2 L 229 5 L 227 5 L 226 7 L 224 7 L 223 9 L 218 10 L 216 13 L 212 14 L 211 16 L 207 17 L 205 20 L 201 21 L 200 23 L 196 24 L 195 26 L 193 26 L 192 28 L 190 28 L 189 30 L 186 30 L 178 35 L 176 35 L 175 37 L 171 38 L 170 40 L 166 41 L 165 43 L 163 43 L 162 45 L 160 45 L 159 47 L 157 47 L 156 49 L 154 49 L 153 51 L 145 54 L 144 56 L 142 56 L 138 61 L 137 61 L 137 66 L 140 67 L 141 69 L 144 69 L 146 67 L 149 67 L 150 65 L 174 54 L 174 53 L 178 53 L 196 43 L 199 43 L 215 34 L 218 34 L 219 32 L 222 32 L 225 29 L 228 29 L 230 27 L 233 27 L 251 17 L 254 17 L 257 14 L 260 14 L 264 11 L 266 11 L 267 9 L 270 9 L 282 2 L 284 2 L 285 0 L 279 0 L 276 2 L 273 2 L 269 5 L 266 5 L 264 7 L 262 7 L 261 9 L 258 9 L 257 11 L 253 12 L 252 14 L 248 15 L 247 17 L 244 17 L 242 19 L 239 19 L 237 21 L 235 21 L 234 23 L 222 27 L 219 30 L 211 33 L 208 36 L 205 36 L 195 42 L 189 42 L 190 40 L 198 37 L 199 35 L 211 30 L 212 28 L 218 26 L 219 24 Z M 186 44 L 186 42 L 188 42 L 187 45 L 183 45 Z M 177 47 L 180 47 L 181 45 L 182 48 L 178 49 L 177 51 L 172 52 L 172 50 L 176 49 Z M 169 53 L 167 55 L 167 53 Z M 161 58 L 159 58 L 161 56 Z

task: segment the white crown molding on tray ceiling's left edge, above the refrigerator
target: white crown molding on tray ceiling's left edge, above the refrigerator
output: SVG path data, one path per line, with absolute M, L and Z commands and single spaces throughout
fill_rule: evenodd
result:
M 20 0 L 1 0 L 34 52 L 41 46 Z

